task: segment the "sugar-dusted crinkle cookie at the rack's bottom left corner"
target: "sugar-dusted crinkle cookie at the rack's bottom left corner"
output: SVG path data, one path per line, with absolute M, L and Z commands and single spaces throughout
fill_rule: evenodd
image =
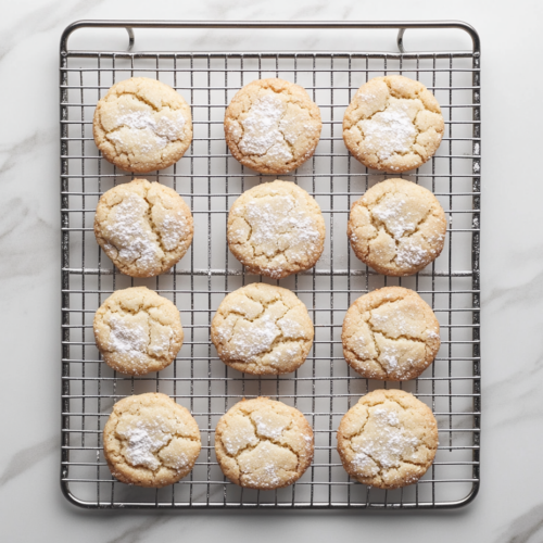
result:
M 197 421 L 166 394 L 128 396 L 113 406 L 103 452 L 117 480 L 160 489 L 186 477 L 202 444 Z

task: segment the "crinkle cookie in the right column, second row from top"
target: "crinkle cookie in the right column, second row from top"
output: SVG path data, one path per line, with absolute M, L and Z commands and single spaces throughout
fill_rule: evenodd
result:
M 405 179 L 378 182 L 351 207 L 348 236 L 356 256 L 376 272 L 413 275 L 443 250 L 445 213 L 427 189 Z

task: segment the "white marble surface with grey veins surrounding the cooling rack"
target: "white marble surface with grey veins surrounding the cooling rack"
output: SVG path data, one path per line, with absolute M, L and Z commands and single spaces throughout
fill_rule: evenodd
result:
M 543 4 L 154 0 L 3 2 L 0 17 L 2 541 L 543 541 Z M 58 46 L 78 18 L 445 20 L 482 40 L 481 490 L 457 512 L 86 512 L 59 488 Z M 202 48 L 205 35 L 188 47 Z M 124 39 L 124 37 L 123 37 Z M 225 43 L 228 43 L 226 41 Z M 311 39 L 306 43 L 311 48 Z M 225 45 L 226 47 L 226 45 Z

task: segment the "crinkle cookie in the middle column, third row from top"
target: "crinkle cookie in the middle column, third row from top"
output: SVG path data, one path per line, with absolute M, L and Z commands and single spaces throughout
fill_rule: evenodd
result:
M 288 374 L 313 344 L 307 308 L 290 290 L 255 282 L 228 294 L 213 317 L 211 340 L 228 366 L 247 374 Z

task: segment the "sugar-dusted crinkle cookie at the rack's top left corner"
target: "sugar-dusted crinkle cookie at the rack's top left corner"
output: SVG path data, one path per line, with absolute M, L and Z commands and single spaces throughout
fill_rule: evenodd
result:
M 147 77 L 115 84 L 94 111 L 94 142 L 127 172 L 146 174 L 175 164 L 192 141 L 190 108 L 172 87 Z

